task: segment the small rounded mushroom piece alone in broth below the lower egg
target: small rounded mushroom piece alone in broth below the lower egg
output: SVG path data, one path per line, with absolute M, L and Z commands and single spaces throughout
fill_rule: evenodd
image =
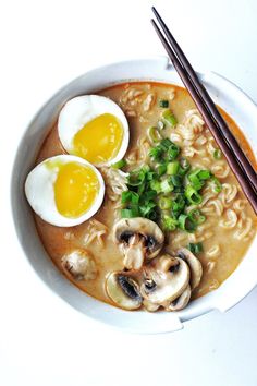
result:
M 63 267 L 76 280 L 93 280 L 97 276 L 96 262 L 87 250 L 74 250 L 62 257 Z

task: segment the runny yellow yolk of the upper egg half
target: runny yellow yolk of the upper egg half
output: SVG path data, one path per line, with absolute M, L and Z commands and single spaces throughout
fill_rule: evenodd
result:
M 122 144 L 123 126 L 117 117 L 103 113 L 87 122 L 73 138 L 73 154 L 98 165 L 113 159 Z

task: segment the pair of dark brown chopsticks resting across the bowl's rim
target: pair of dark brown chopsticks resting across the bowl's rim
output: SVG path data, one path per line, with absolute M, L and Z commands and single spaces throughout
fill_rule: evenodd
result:
M 152 7 L 152 12 L 167 37 L 155 20 L 151 20 L 168 56 L 257 215 L 257 174 L 253 166 L 155 7 Z

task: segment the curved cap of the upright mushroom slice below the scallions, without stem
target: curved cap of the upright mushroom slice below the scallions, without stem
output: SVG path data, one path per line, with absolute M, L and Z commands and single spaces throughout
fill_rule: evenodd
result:
M 158 225 L 144 217 L 122 218 L 113 229 L 114 241 L 128 246 L 130 239 L 138 234 L 143 240 L 146 258 L 154 258 L 160 252 L 164 236 Z

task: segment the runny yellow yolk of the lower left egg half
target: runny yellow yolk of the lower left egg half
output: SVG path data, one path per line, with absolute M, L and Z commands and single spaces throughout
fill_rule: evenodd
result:
M 78 162 L 50 165 L 58 167 L 54 182 L 54 200 L 58 212 L 69 218 L 84 215 L 94 204 L 99 192 L 95 171 Z

